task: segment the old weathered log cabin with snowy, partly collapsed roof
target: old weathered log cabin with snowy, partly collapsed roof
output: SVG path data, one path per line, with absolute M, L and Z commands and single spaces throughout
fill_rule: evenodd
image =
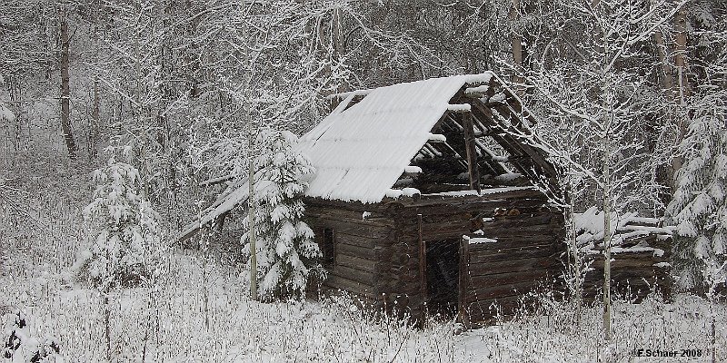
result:
M 554 152 L 496 74 L 336 97 L 298 145 L 316 169 L 304 201 L 325 288 L 416 319 L 476 321 L 562 274 Z M 234 185 L 179 239 L 245 201 L 244 182 Z

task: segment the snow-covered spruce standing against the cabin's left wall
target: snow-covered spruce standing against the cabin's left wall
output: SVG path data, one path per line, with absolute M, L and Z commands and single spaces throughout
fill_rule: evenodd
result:
M 257 136 L 254 231 L 258 295 L 265 300 L 301 298 L 309 278 L 324 278 L 325 271 L 318 263 L 321 250 L 313 240 L 313 231 L 302 221 L 301 197 L 307 187 L 304 178 L 314 168 L 294 152 L 296 142 L 291 132 L 262 129 Z M 244 224 L 249 231 L 247 219 Z M 249 259 L 248 232 L 241 242 Z

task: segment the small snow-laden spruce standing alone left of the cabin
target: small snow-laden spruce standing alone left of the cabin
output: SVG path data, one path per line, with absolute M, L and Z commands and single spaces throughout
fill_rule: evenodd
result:
M 94 200 L 84 209 L 91 243 L 72 270 L 101 291 L 138 286 L 152 276 L 161 250 L 159 215 L 144 198 L 133 165 L 113 155 L 93 177 Z

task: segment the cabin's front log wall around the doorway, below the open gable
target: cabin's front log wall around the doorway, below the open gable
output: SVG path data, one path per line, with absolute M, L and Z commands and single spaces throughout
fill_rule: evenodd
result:
M 517 214 L 495 216 L 503 211 Z M 563 270 L 558 250 L 564 250 L 563 215 L 551 211 L 539 191 L 404 201 L 401 211 L 393 215 L 397 226 L 393 252 L 398 258 L 392 260 L 389 289 L 406 294 L 413 317 L 422 316 L 424 301 L 418 214 L 422 214 L 425 241 L 459 240 L 477 229 L 483 230 L 483 237 L 498 239 L 496 244 L 473 245 L 470 250 L 471 272 L 463 277 L 469 285 L 462 295 L 464 308 L 470 310 L 473 320 L 485 318 L 481 307 L 489 307 L 495 300 L 511 304 L 534 287 L 534 280 L 550 279 Z

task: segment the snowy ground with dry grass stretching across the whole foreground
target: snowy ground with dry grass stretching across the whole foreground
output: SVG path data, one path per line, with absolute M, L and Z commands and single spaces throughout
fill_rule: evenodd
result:
M 81 209 L 90 195 L 87 178 L 53 159 L 16 165 L 5 168 L 13 174 L 0 177 L 27 192 L 14 199 L 36 221 L 7 205 L 0 210 L 0 315 L 22 309 L 32 337 L 58 339 L 58 360 L 105 361 L 103 298 L 68 282 L 68 268 L 85 240 Z M 455 334 L 452 321 L 432 319 L 426 329 L 413 329 L 403 320 L 378 319 L 345 297 L 250 301 L 244 271 L 214 253 L 175 248 L 163 270 L 153 288 L 111 296 L 115 361 L 711 361 L 712 321 L 716 361 L 727 359 L 727 307 L 690 295 L 671 302 L 617 301 L 614 338 L 606 344 L 600 306 L 578 314 L 573 304 L 547 295 L 534 314 Z M 633 358 L 640 348 L 676 350 L 679 356 L 693 349 L 689 353 L 701 357 Z

